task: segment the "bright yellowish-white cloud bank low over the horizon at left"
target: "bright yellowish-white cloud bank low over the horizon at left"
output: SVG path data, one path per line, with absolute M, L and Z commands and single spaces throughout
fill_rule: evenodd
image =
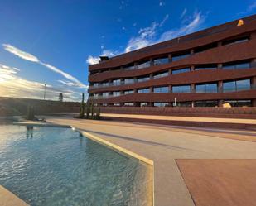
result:
M 20 69 L 0 64 L 0 96 L 17 98 L 42 98 L 45 84 L 23 79 L 18 76 Z M 65 101 L 80 100 L 79 93 L 70 89 L 61 89 L 46 85 L 46 98 L 57 99 L 63 93 Z

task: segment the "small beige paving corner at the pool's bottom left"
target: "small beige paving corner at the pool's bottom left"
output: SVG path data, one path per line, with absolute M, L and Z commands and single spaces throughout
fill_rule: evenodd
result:
M 29 206 L 22 199 L 0 185 L 0 206 Z

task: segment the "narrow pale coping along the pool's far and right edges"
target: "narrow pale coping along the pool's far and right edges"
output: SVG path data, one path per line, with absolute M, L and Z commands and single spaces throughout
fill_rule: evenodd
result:
M 146 163 L 147 165 L 152 166 L 152 206 L 155 205 L 155 184 L 154 184 L 154 161 L 150 160 L 144 156 L 138 155 L 137 153 L 133 151 L 129 151 L 128 149 L 125 149 L 121 146 L 118 146 L 114 143 L 111 143 L 110 141 L 106 141 L 103 138 L 97 137 L 90 132 L 82 131 L 76 127 L 73 127 L 72 125 L 60 125 L 56 123 L 51 122 L 36 122 L 36 121 L 24 121 L 24 122 L 12 122 L 13 125 L 17 126 L 34 126 L 34 127 L 61 127 L 61 128 L 70 128 L 76 132 L 80 132 L 80 134 L 83 135 L 83 137 L 87 137 L 92 141 L 98 142 L 101 145 L 107 146 L 114 151 L 118 151 L 120 153 L 123 153 L 126 156 L 132 156 L 135 159 L 141 160 L 142 162 Z M 0 185 L 1 186 L 1 185 Z M 22 200 L 22 199 L 21 199 Z M 24 200 L 22 200 L 24 201 Z

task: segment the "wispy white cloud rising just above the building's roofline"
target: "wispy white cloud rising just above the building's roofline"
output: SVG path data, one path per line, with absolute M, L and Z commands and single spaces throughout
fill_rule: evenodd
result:
M 184 36 L 194 31 L 200 30 L 205 22 L 205 16 L 201 12 L 194 12 L 192 16 L 186 16 L 186 8 L 181 12 L 181 26 L 173 28 L 160 33 L 160 29 L 169 19 L 167 14 L 161 22 L 152 22 L 150 26 L 139 29 L 138 35 L 129 39 L 124 51 L 104 50 L 102 55 L 108 55 L 109 57 L 121 54 L 123 52 L 129 52 L 132 50 L 138 50 L 145 46 L 150 46 L 161 41 L 171 40 L 177 36 Z M 89 55 L 86 62 L 89 65 L 99 63 L 99 56 Z

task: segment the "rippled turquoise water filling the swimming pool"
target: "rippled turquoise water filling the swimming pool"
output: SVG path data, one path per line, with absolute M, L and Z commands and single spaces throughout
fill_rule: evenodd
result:
M 150 205 L 149 166 L 70 128 L 0 125 L 0 184 L 31 205 Z

